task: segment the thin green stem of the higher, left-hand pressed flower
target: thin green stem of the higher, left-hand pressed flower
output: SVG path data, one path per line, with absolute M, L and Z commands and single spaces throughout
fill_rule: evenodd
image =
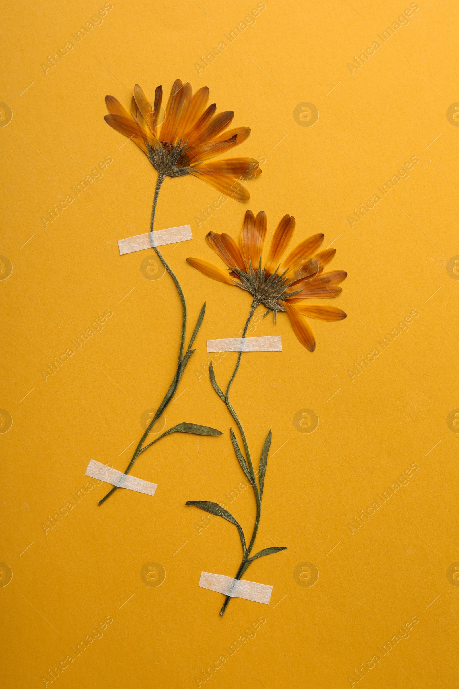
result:
M 158 196 L 160 193 L 160 188 L 162 183 L 164 182 L 165 175 L 162 173 L 158 173 L 158 180 L 156 181 L 156 187 L 155 187 L 155 194 L 153 196 L 153 207 L 151 209 L 151 221 L 150 221 L 150 232 L 153 232 L 153 227 L 155 225 L 155 214 L 156 214 L 156 204 L 158 203 Z M 189 360 L 189 351 L 185 354 L 185 357 L 183 356 L 183 351 L 184 351 L 184 345 L 185 345 L 185 333 L 186 333 L 186 301 L 185 297 L 182 291 L 182 287 L 180 287 L 180 283 L 178 282 L 178 279 L 176 278 L 175 274 L 173 273 L 171 267 L 167 264 L 167 262 L 164 260 L 162 257 L 158 247 L 153 247 L 155 249 L 156 254 L 158 254 L 158 257 L 160 258 L 162 264 L 164 265 L 165 269 L 175 282 L 175 287 L 177 287 L 178 294 L 180 295 L 180 300 L 182 301 L 182 312 L 183 312 L 183 318 L 182 318 L 182 337 L 180 340 L 180 353 L 178 355 L 178 369 L 175 372 L 175 376 L 173 378 L 173 381 L 171 382 L 171 386 L 169 387 L 169 391 L 167 392 L 166 396 L 164 397 L 164 400 L 162 400 L 162 403 L 160 404 L 160 407 L 158 407 L 153 419 L 151 420 L 151 423 L 149 426 L 147 426 L 147 430 L 145 433 L 142 435 L 142 438 L 140 439 L 140 442 L 138 446 L 136 447 L 136 451 L 134 452 L 134 455 L 132 455 L 131 461 L 129 462 L 127 469 L 125 471 L 125 474 L 129 473 L 131 471 L 131 467 L 136 461 L 137 457 L 142 454 L 143 451 L 147 449 L 147 447 L 150 447 L 151 445 L 154 445 L 156 443 L 156 440 L 160 440 L 157 438 L 156 440 L 153 440 L 147 447 L 142 448 L 142 444 L 145 442 L 145 438 L 147 438 L 147 435 L 149 434 L 150 429 L 153 427 L 153 424 L 156 423 L 158 418 L 160 418 L 160 415 L 166 409 L 167 405 L 173 398 L 173 395 L 175 394 L 175 390 L 177 389 L 178 386 L 178 381 L 182 377 L 182 373 L 184 371 L 184 368 L 186 367 L 186 364 L 188 363 Z M 251 318 L 251 316 L 250 316 Z M 191 352 L 192 353 L 192 352 Z M 189 356 L 187 356 L 189 355 Z M 239 364 L 238 364 L 239 365 Z M 114 493 L 118 489 L 118 486 L 114 486 L 111 491 L 105 495 L 105 497 L 102 498 L 102 500 L 99 500 L 98 504 L 101 505 L 105 500 L 107 500 L 107 497 L 110 497 L 112 493 Z

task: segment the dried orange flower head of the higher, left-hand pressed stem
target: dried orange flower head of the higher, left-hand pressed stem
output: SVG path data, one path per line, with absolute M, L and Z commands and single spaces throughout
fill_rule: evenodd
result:
M 209 88 L 203 86 L 193 94 L 191 84 L 175 79 L 162 122 L 162 86 L 150 105 L 140 86 L 134 86 L 131 112 L 114 98 L 105 96 L 109 111 L 105 121 L 117 132 L 132 138 L 147 154 L 158 173 L 169 177 L 193 174 L 238 201 L 250 198 L 241 178 L 261 174 L 254 158 L 227 158 L 207 162 L 242 143 L 250 134 L 248 127 L 227 130 L 233 111 L 215 113 L 215 103 L 207 106 Z M 227 131 L 225 131 L 227 130 Z

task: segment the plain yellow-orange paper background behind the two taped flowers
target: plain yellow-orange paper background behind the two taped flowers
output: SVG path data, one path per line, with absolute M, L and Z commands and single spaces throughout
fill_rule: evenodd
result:
M 12 570 L 8 586 L 0 579 L 2 689 L 43 689 L 42 676 L 47 689 L 350 689 L 348 676 L 354 689 L 453 689 L 459 417 L 447 418 L 459 408 L 459 110 L 450 119 L 447 110 L 459 102 L 459 3 L 418 0 L 407 17 L 412 0 L 265 0 L 255 17 L 259 0 L 111 0 L 94 21 L 105 0 L 42 3 L 2 12 L 0 101 L 12 110 L 0 126 L 0 255 L 12 264 L 10 276 L 0 264 L 0 408 L 12 418 L 8 432 L 0 418 L 0 562 Z M 160 440 L 132 467 L 158 483 L 154 500 L 115 491 L 99 507 L 112 486 L 83 466 L 98 457 L 125 471 L 142 414 L 171 383 L 182 328 L 170 276 L 150 280 L 140 268 L 159 263 L 153 249 L 120 256 L 118 240 L 149 232 L 157 172 L 105 123 L 104 97 L 129 111 L 136 83 L 151 104 L 162 84 L 165 106 L 175 79 L 208 86 L 208 105 L 234 112 L 230 129 L 250 127 L 211 163 L 266 161 L 244 185 L 246 203 L 186 175 L 164 181 L 156 209 L 155 229 L 189 223 L 193 233 L 160 249 L 186 296 L 186 345 L 206 301 L 161 432 L 188 421 L 224 435 Z M 306 102 L 319 110 L 313 126 Z M 412 156 L 419 163 L 398 174 Z M 206 340 L 242 336 L 252 297 L 186 258 L 226 269 L 205 236 L 239 244 L 247 209 L 266 212 L 265 257 L 287 213 L 296 219 L 288 252 L 324 232 L 321 249 L 337 249 L 325 271 L 348 278 L 338 299 L 310 303 L 348 318 L 309 319 L 310 354 L 286 313 L 274 325 L 255 311 L 248 336 L 281 335 L 284 351 L 244 354 L 230 402 L 255 471 L 273 433 L 253 553 L 288 551 L 243 577 L 273 584 L 270 606 L 234 598 L 221 618 L 223 596 L 198 581 L 203 568 L 235 576 L 237 529 L 184 504 L 222 502 L 252 533 L 255 501 L 231 425 L 241 440 L 208 372 L 210 360 L 224 391 L 237 353 L 206 351 Z M 158 581 L 151 562 L 167 572 L 158 588 L 147 585 L 146 576 Z M 308 562 L 320 573 L 314 586 Z M 261 614 L 266 624 L 249 638 Z M 107 615 L 103 637 L 76 655 Z M 74 661 L 51 682 L 67 654 Z M 212 667 L 202 670 L 222 654 L 206 681 Z

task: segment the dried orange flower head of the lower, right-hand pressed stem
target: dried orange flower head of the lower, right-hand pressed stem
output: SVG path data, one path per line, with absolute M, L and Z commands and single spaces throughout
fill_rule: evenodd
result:
M 200 258 L 186 260 L 201 273 L 214 280 L 245 289 L 253 295 L 255 305 L 264 304 L 268 311 L 286 311 L 299 342 L 314 351 L 314 333 L 303 316 L 320 320 L 343 320 L 344 311 L 334 306 L 306 305 L 306 299 L 328 299 L 341 294 L 340 282 L 348 275 L 343 270 L 324 273 L 323 269 L 336 254 L 336 249 L 317 251 L 323 234 L 313 234 L 303 240 L 281 262 L 295 230 L 295 218 L 288 214 L 281 219 L 274 233 L 266 258 L 262 263 L 267 220 L 264 211 L 257 217 L 246 212 L 239 238 L 239 247 L 228 234 L 209 232 L 206 241 L 230 271 L 224 271 Z M 261 266 L 264 266 L 263 268 Z

